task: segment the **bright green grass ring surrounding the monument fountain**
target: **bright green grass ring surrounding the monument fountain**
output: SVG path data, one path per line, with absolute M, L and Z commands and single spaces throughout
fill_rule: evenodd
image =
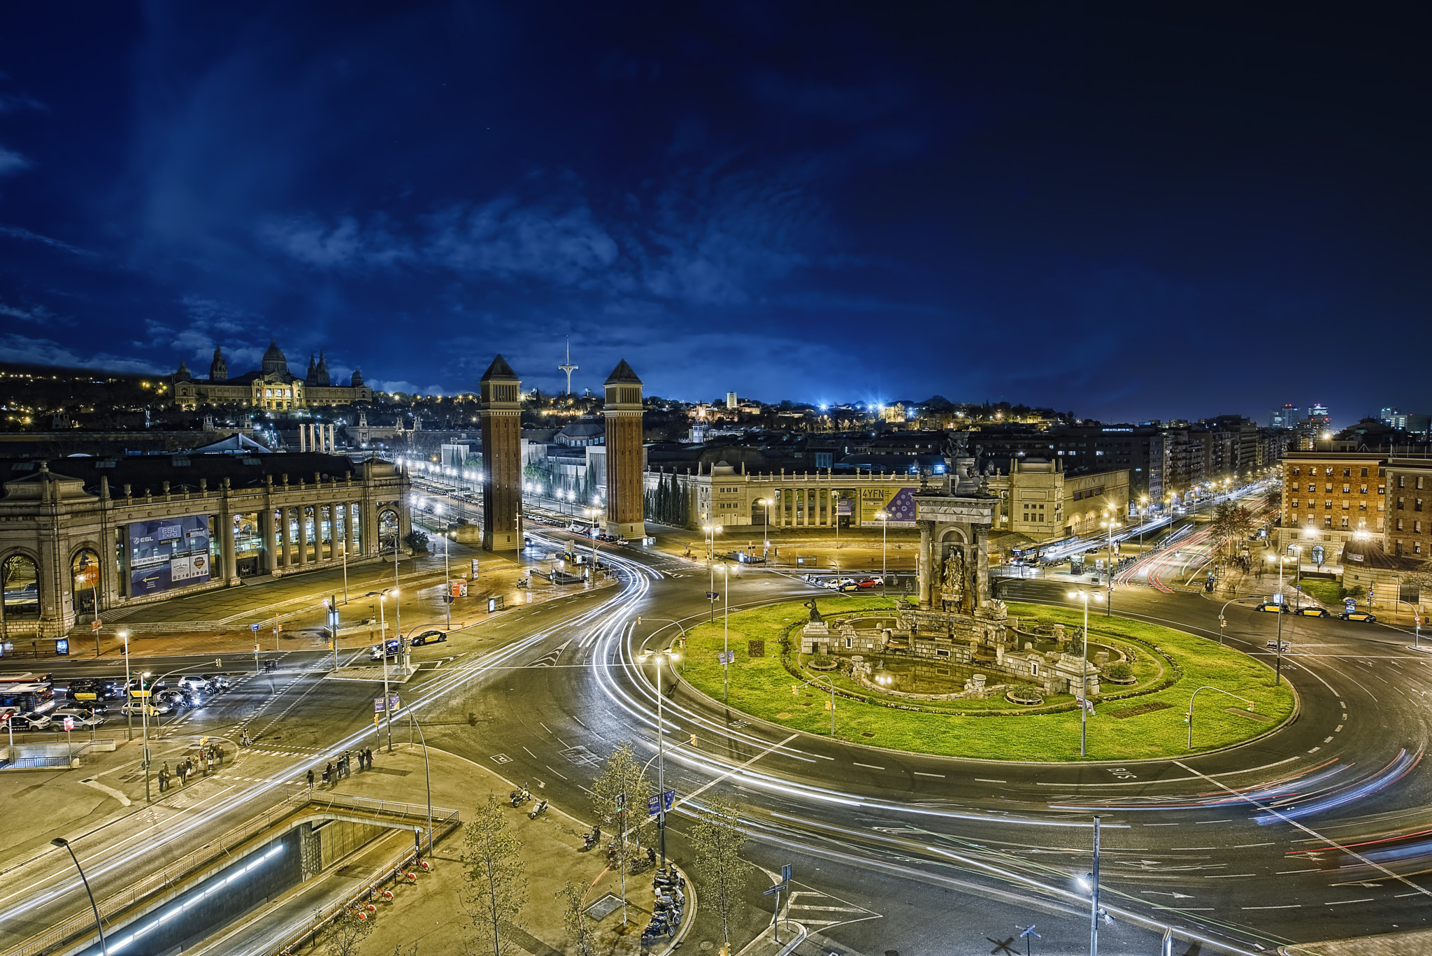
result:
M 862 595 L 831 595 L 818 601 L 821 612 L 828 618 L 852 611 L 894 606 L 894 599 Z M 792 694 L 796 679 L 780 664 L 782 635 L 790 625 L 805 623 L 808 615 L 806 608 L 795 601 L 730 615 L 729 646 L 735 652 L 729 674 L 730 704 L 792 730 L 829 734 L 831 712 L 826 709 L 829 694 L 803 685 Z M 1011 603 L 1010 615 L 1021 618 L 1024 628 L 1037 622 L 1083 623 L 1081 612 L 1041 605 Z M 1095 644 L 1107 639 L 1138 648 L 1136 674 L 1140 677 L 1140 687 L 1156 685 L 1160 668 L 1171 671 L 1170 675 L 1177 681 L 1173 687 L 1157 692 L 1120 701 L 1095 701 L 1095 714 L 1088 720 L 1087 760 L 1179 757 L 1226 747 L 1267 731 L 1293 712 L 1293 694 L 1287 685 L 1274 688 L 1270 668 L 1230 648 L 1181 631 L 1124 618 L 1090 618 L 1090 632 Z M 722 698 L 723 668 L 716 658 L 723 648 L 722 634 L 720 619 L 692 628 L 687 632 L 686 659 L 682 665 L 683 677 L 716 699 Z M 798 634 L 792 632 L 790 636 L 799 646 Z M 1121 638 L 1130 641 L 1120 641 Z M 750 656 L 749 641 L 765 641 L 765 656 Z M 1167 662 L 1156 659 L 1144 645 L 1157 646 L 1173 661 L 1174 668 L 1170 669 Z M 856 687 L 845 678 L 841 681 L 848 688 Z M 842 685 L 841 681 L 838 687 Z M 1204 691 L 1197 699 L 1194 747 L 1189 751 L 1184 747 L 1189 725 L 1184 724 L 1183 715 L 1189 709 L 1189 695 L 1201 685 L 1213 685 L 1250 698 L 1256 704 L 1257 714 L 1273 720 L 1259 721 L 1232 714 L 1226 708 L 1242 709 L 1246 705 L 1223 694 Z M 1104 691 L 1106 695 L 1128 692 L 1113 684 L 1106 684 Z M 1050 701 L 1050 704 L 1058 702 L 1060 698 Z M 974 709 L 969 701 L 958 704 L 964 709 Z M 1147 709 L 1123 720 L 1114 717 L 1126 708 L 1147 704 L 1167 707 Z M 1002 699 L 985 705 L 1012 709 Z M 836 697 L 835 708 L 836 735 L 855 742 L 981 760 L 1080 760 L 1080 715 L 1075 709 L 1014 717 L 954 715 L 902 711 L 842 697 Z

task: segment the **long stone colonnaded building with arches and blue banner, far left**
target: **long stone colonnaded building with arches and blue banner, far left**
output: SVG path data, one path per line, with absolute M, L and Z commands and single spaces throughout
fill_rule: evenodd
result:
M 0 459 L 3 639 L 64 635 L 120 609 L 391 553 L 408 477 L 299 454 Z M 106 629 L 109 629 L 106 626 Z

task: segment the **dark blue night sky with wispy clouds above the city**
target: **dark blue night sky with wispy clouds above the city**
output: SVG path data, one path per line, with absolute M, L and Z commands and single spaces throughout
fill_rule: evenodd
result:
M 7 4 L 0 358 L 1428 411 L 1416 6 Z

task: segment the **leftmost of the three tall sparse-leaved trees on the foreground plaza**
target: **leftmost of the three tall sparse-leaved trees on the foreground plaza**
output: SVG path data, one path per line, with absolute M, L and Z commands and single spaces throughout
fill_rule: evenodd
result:
M 478 930 L 470 949 L 483 956 L 507 956 L 517 949 L 511 930 L 520 929 L 517 916 L 527 903 L 527 864 L 520 856 L 523 844 L 494 794 L 487 794 L 487 803 L 463 827 L 463 846 L 467 887 L 460 900 Z

